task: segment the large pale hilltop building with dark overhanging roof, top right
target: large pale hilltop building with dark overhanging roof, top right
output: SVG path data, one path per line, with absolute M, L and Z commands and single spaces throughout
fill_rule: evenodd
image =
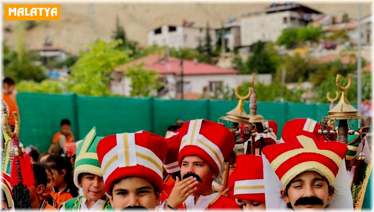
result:
M 298 3 L 273 3 L 262 11 L 246 13 L 240 20 L 241 46 L 259 40 L 276 42 L 285 28 L 304 27 L 321 16 L 321 12 Z

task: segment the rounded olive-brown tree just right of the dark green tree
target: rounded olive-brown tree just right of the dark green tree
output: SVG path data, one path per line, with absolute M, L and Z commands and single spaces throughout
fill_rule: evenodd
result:
M 286 82 L 306 81 L 310 73 L 317 69 L 316 62 L 309 55 L 303 57 L 300 54 L 286 55 L 283 67 L 286 70 Z M 282 69 L 277 70 L 276 77 L 282 78 Z

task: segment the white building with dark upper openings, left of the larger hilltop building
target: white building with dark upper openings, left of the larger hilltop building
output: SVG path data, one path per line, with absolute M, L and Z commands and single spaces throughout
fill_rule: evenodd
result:
M 204 43 L 205 36 L 206 28 L 203 27 L 162 25 L 148 32 L 148 45 L 195 49 L 199 46 L 199 39 Z M 215 29 L 211 28 L 210 36 L 212 46 L 215 46 Z

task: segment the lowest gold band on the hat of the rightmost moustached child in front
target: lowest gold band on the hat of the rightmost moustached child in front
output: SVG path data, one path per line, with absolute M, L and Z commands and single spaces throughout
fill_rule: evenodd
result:
M 297 164 L 282 176 L 281 182 L 283 184 L 283 188 L 285 188 L 286 185 L 288 185 L 289 182 L 291 182 L 291 180 L 294 179 L 298 174 L 305 172 L 306 170 L 319 170 L 324 175 L 324 177 L 327 178 L 330 185 L 332 185 L 332 183 L 334 182 L 335 175 L 328 167 L 326 167 L 322 163 L 318 163 L 317 161 L 307 161 Z

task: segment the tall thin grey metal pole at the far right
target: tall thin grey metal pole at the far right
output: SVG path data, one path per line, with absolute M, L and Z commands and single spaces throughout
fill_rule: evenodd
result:
M 357 42 L 357 109 L 358 115 L 361 115 L 362 86 L 361 86 L 361 3 L 358 3 L 358 42 Z M 361 120 L 358 121 L 358 127 L 361 127 Z

